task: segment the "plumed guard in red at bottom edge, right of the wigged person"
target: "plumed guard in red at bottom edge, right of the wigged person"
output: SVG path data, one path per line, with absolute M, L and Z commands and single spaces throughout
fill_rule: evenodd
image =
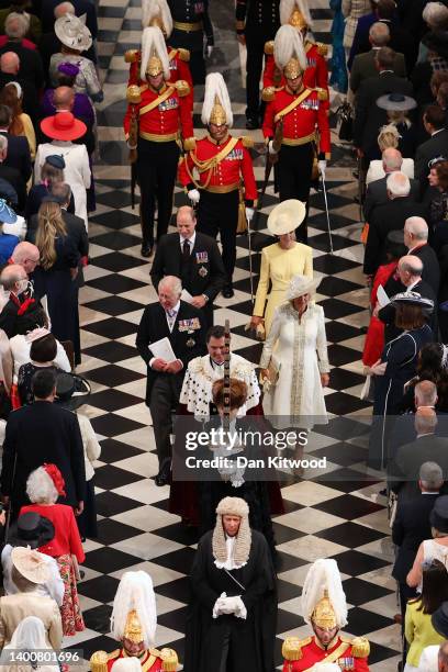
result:
M 339 635 L 347 625 L 347 602 L 336 560 L 316 560 L 311 565 L 303 584 L 302 616 L 314 636 L 287 637 L 283 672 L 307 672 L 321 662 L 337 663 L 341 672 L 369 671 L 369 641 Z

